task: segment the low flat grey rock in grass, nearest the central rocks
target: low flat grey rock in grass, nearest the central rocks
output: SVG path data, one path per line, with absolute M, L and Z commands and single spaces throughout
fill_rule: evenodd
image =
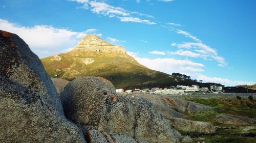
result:
M 203 133 L 216 132 L 215 127 L 207 122 L 191 121 L 182 118 L 172 118 L 170 121 L 170 124 L 177 130 Z

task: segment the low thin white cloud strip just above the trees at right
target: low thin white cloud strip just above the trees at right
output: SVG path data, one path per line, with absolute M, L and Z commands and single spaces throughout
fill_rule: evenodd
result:
M 227 78 L 221 78 L 221 77 L 208 77 L 202 74 L 199 74 L 197 76 L 198 80 L 203 80 L 204 82 L 215 82 L 215 83 L 221 83 L 226 86 L 234 86 L 234 85 L 242 85 L 242 84 L 247 84 L 247 85 L 252 85 L 255 82 L 252 81 L 238 81 L 238 80 L 230 80 Z

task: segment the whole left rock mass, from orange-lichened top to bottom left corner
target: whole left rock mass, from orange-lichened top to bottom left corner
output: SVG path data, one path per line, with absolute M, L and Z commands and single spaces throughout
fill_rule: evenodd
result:
M 17 35 L 0 31 L 0 142 L 86 142 L 64 116 L 40 60 Z

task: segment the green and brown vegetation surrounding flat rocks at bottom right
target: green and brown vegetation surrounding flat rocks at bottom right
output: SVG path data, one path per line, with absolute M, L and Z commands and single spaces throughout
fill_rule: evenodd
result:
M 194 142 L 256 142 L 256 125 L 235 126 L 217 123 L 214 120 L 216 115 L 220 113 L 228 113 L 232 115 L 244 116 L 256 119 L 256 100 L 238 100 L 238 99 L 202 99 L 202 98 L 186 98 L 186 100 L 201 103 L 213 107 L 213 110 L 199 111 L 194 113 L 183 112 L 188 116 L 189 120 L 210 122 L 214 126 L 218 126 L 217 132 L 214 134 L 203 134 L 197 132 L 181 132 L 183 135 L 189 135 Z M 246 130 L 246 128 L 252 128 Z

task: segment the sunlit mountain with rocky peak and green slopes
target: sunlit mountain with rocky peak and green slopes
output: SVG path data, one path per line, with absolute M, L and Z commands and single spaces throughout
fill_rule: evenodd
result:
M 139 64 L 121 46 L 114 46 L 95 35 L 87 35 L 67 53 L 41 59 L 54 78 L 73 80 L 79 76 L 101 76 L 116 88 L 133 89 L 195 84 L 193 80 L 173 77 Z

